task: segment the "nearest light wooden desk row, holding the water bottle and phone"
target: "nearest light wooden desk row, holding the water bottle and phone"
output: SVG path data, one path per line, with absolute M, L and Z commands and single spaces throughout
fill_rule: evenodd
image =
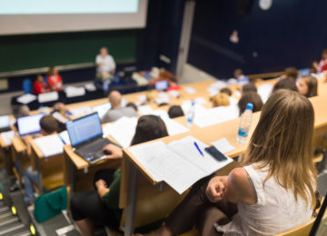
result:
M 325 107 L 327 101 L 327 84 L 322 84 L 320 81 L 319 86 L 319 96 L 310 98 L 315 113 L 314 135 L 316 139 L 318 139 L 322 133 L 327 133 L 327 109 Z M 236 142 L 236 134 L 240 118 L 225 123 L 214 124 L 203 129 L 194 129 L 188 133 L 164 137 L 160 140 L 164 143 L 169 143 L 173 140 L 181 139 L 186 135 L 193 135 L 203 143 L 210 145 L 211 142 L 221 138 L 226 138 L 235 147 L 232 152 L 227 152 L 226 154 L 230 157 L 235 157 L 246 151 L 253 131 L 259 122 L 260 114 L 261 112 L 253 113 L 253 125 L 246 143 Z M 144 178 L 153 185 L 158 184 L 151 174 L 144 169 L 143 165 L 136 160 L 133 154 L 128 152 L 127 149 L 124 149 L 120 192 L 120 207 L 125 209 L 126 215 L 126 220 L 124 221 L 124 235 L 132 235 L 134 233 L 136 203 L 139 201 L 138 188 L 141 188 L 140 186 L 142 186 L 139 179 Z

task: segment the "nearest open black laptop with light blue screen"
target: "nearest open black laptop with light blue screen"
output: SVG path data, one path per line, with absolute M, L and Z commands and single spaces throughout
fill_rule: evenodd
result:
M 103 148 L 113 143 L 103 138 L 103 131 L 98 113 L 91 113 L 66 123 L 68 136 L 74 152 L 86 162 L 99 162 L 105 158 Z

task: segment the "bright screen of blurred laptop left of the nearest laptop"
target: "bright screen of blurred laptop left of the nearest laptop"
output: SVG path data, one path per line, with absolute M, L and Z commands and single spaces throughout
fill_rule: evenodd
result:
M 45 116 L 45 113 L 38 113 L 20 117 L 17 119 L 19 135 L 41 132 L 40 120 Z

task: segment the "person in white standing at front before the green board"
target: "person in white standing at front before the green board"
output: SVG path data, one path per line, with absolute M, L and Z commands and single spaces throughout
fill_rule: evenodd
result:
M 109 89 L 111 79 L 114 77 L 115 63 L 114 57 L 108 54 L 108 49 L 102 47 L 100 54 L 95 58 L 96 64 L 96 79 L 102 84 L 104 91 Z

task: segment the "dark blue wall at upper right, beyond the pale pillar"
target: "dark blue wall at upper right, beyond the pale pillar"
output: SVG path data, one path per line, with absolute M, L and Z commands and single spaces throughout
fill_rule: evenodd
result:
M 327 47 L 326 9 L 325 0 L 273 0 L 268 11 L 259 0 L 199 0 L 188 63 L 219 78 L 237 67 L 245 74 L 310 67 Z M 229 40 L 234 29 L 239 44 Z

